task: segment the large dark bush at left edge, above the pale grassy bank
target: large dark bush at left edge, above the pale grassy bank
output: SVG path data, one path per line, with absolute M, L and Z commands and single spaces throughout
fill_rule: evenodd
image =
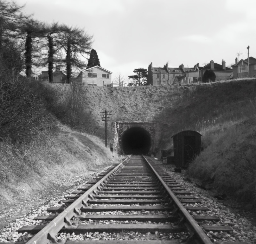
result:
M 27 79 L 0 81 L 1 140 L 29 142 L 40 131 L 55 127 L 55 120 L 44 108 L 42 99 L 33 93 Z

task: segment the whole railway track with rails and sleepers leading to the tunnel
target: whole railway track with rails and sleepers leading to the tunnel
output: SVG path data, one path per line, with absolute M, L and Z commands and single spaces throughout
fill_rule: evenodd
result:
M 202 213 L 208 208 L 192 206 L 200 199 L 143 156 L 128 157 L 62 202 L 62 207 L 48 209 L 49 215 L 36 217 L 38 225 L 18 230 L 34 234 L 27 244 L 210 244 L 207 231 L 232 231 L 230 226 L 199 225 L 202 220 L 217 223 L 219 218 L 192 217 L 188 211 Z M 124 233 L 132 240 L 124 240 Z

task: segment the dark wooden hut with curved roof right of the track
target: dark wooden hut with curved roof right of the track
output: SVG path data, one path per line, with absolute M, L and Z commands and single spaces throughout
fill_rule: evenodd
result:
M 174 161 L 177 167 L 186 168 L 201 151 L 201 134 L 196 131 L 181 131 L 172 136 Z

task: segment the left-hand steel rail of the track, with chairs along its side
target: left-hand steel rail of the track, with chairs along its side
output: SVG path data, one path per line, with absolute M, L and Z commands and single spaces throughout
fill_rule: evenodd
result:
M 123 164 L 130 158 L 128 156 L 124 161 L 118 164 L 113 170 L 106 174 L 102 179 L 100 179 L 96 184 L 94 184 L 90 189 L 88 189 L 83 195 L 81 195 L 75 202 L 69 205 L 64 211 L 62 211 L 56 218 L 54 218 L 48 225 L 46 225 L 41 231 L 39 231 L 35 236 L 26 242 L 26 244 L 48 244 L 48 243 L 59 243 L 57 234 L 66 225 L 69 228 L 74 227 L 70 219 L 72 217 L 79 216 L 81 214 L 80 208 L 82 208 L 86 202 L 92 197 L 92 194 L 96 193 L 103 187 L 106 179 L 110 175 L 115 174 Z

